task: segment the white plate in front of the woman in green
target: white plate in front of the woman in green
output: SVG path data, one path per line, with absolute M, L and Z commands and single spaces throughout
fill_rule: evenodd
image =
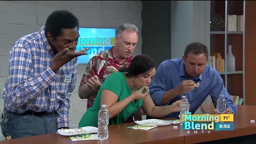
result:
M 137 120 L 135 121 L 135 123 L 141 126 L 168 126 L 172 124 L 172 121 L 148 119 L 148 120 L 140 120 L 140 121 Z

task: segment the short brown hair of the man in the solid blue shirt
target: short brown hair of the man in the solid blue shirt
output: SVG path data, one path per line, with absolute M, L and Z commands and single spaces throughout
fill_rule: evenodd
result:
M 192 43 L 188 44 L 186 46 L 186 49 L 184 52 L 185 58 L 188 57 L 189 53 L 192 53 L 195 55 L 205 54 L 206 58 L 208 58 L 208 56 L 209 56 L 207 46 L 200 42 L 192 42 Z

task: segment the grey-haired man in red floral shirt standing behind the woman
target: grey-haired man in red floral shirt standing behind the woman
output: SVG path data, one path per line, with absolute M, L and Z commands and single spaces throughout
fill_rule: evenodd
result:
M 137 42 L 138 28 L 133 24 L 123 24 L 117 30 L 115 46 L 96 54 L 88 62 L 78 90 L 81 99 L 88 99 L 87 109 L 92 107 L 98 90 L 106 78 L 117 72 L 119 68 L 130 65 Z M 141 120 L 141 115 L 142 109 L 139 108 L 134 118 Z M 127 122 L 133 122 L 133 116 L 128 118 Z

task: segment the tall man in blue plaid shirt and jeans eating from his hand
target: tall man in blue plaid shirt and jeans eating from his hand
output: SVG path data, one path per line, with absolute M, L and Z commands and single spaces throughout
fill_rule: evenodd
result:
M 9 54 L 2 97 L 1 128 L 21 138 L 68 128 L 70 95 L 75 88 L 78 19 L 66 10 L 50 14 L 40 32 L 18 39 Z

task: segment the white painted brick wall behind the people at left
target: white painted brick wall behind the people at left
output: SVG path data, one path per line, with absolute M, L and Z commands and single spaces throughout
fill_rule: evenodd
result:
M 142 28 L 141 1 L 0 1 L 0 92 L 8 74 L 8 54 L 12 44 L 21 36 L 37 32 L 54 10 L 69 10 L 79 19 L 80 27 L 118 28 L 130 22 Z M 134 55 L 141 54 L 142 37 Z M 78 97 L 78 87 L 85 65 L 78 66 L 76 88 L 70 98 L 70 128 L 77 128 L 86 111 L 87 100 Z M 3 99 L 0 98 L 0 109 Z M 2 132 L 0 140 L 3 139 Z

